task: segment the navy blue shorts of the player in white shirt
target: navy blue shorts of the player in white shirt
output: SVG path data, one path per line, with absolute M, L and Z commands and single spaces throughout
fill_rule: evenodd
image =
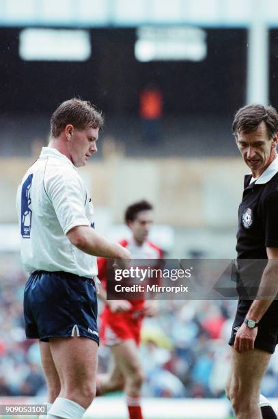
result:
M 98 340 L 98 303 L 93 279 L 68 272 L 33 272 L 25 285 L 26 337 L 83 336 Z

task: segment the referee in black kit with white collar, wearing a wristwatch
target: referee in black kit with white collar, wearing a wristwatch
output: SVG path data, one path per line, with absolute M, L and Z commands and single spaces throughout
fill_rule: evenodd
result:
M 262 299 L 255 299 L 257 293 L 253 300 L 245 299 L 248 292 L 239 297 L 229 342 L 232 366 L 226 391 L 237 419 L 273 419 L 277 416 L 260 395 L 260 385 L 278 343 L 277 111 L 271 106 L 242 107 L 234 118 L 233 131 L 251 169 L 245 176 L 238 210 L 238 264 L 244 266 L 242 259 L 265 259 L 265 263 L 255 270 Z M 262 294 L 262 290 L 267 291 Z

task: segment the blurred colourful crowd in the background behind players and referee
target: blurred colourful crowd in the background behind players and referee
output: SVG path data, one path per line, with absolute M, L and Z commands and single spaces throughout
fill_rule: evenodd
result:
M 26 340 L 23 290 L 26 275 L 18 257 L 0 257 L 0 396 L 42 396 L 46 392 L 37 340 Z M 227 345 L 236 301 L 158 301 L 159 314 L 145 319 L 141 355 L 143 396 L 224 397 L 229 373 Z M 100 304 L 101 309 L 101 304 Z M 109 365 L 100 345 L 99 370 Z M 262 393 L 278 396 L 278 355 L 272 357 Z

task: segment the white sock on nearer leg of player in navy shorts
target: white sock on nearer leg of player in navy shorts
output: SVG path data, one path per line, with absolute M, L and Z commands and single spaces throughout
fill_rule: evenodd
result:
M 86 409 L 68 398 L 57 397 L 46 419 L 81 419 Z

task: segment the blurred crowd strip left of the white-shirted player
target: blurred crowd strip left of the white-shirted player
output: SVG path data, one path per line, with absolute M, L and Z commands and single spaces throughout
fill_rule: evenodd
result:
M 38 342 L 25 339 L 27 276 L 18 255 L 1 255 L 0 266 L 0 396 L 35 396 L 45 392 L 45 383 Z

